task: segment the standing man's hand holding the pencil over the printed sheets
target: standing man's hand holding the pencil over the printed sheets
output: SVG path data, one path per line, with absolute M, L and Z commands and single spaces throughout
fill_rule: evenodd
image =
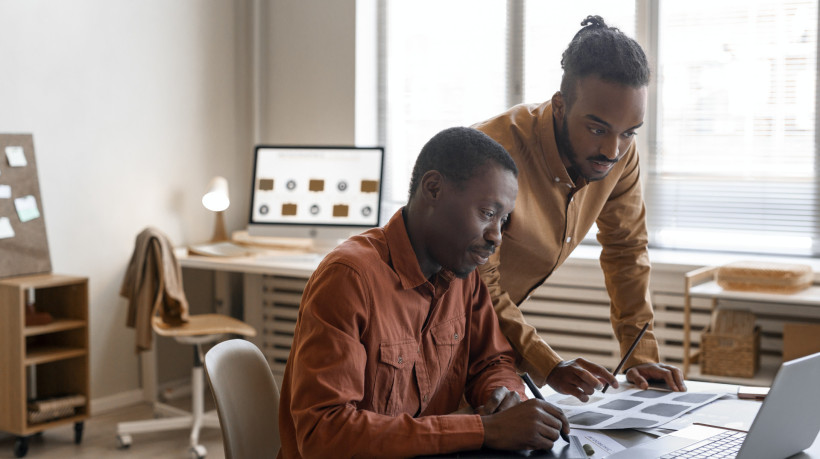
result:
M 612 373 L 581 357 L 559 362 L 547 376 L 547 384 L 556 392 L 572 395 L 582 402 L 589 401 L 595 389 L 602 389 L 604 384 L 618 388 Z

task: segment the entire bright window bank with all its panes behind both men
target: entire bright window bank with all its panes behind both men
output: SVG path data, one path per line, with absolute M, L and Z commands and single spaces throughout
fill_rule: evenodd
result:
M 694 2 L 694 3 L 693 3 Z M 817 0 L 381 1 L 386 197 L 416 155 L 558 89 L 561 53 L 599 14 L 656 63 L 639 130 L 653 247 L 820 253 Z M 637 14 L 640 11 L 641 14 Z M 434 13 L 431 13 L 434 12 Z

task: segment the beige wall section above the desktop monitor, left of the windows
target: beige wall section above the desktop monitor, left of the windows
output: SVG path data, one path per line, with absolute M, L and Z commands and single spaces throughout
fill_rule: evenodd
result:
M 263 2 L 262 143 L 355 143 L 356 0 Z

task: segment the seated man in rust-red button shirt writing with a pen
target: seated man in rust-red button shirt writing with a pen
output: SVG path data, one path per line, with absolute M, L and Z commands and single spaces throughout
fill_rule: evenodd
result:
M 479 131 L 434 136 L 407 205 L 340 244 L 302 296 L 282 386 L 279 457 L 549 449 L 560 409 L 524 387 L 474 272 L 501 244 L 515 163 Z M 476 414 L 452 414 L 462 394 Z

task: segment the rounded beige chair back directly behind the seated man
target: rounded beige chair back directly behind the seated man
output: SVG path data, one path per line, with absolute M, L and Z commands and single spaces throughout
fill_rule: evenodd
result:
M 279 388 L 268 362 L 254 344 L 232 339 L 205 354 L 205 371 L 222 424 L 227 459 L 276 457 Z

